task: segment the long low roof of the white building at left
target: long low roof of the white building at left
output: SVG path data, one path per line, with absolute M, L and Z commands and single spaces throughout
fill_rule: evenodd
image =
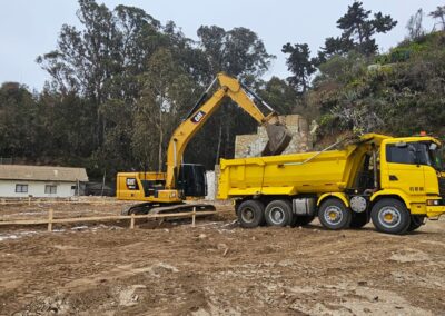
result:
M 0 180 L 88 181 L 85 168 L 0 165 Z

